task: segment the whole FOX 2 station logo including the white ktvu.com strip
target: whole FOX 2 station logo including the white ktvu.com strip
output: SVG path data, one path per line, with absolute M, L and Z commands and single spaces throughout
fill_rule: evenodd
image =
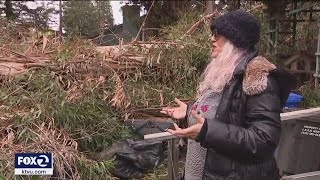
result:
M 15 175 L 52 175 L 52 153 L 17 153 L 14 159 Z

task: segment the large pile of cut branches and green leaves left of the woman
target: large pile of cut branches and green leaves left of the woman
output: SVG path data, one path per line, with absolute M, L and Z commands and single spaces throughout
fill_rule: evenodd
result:
M 190 17 L 189 24 L 199 18 Z M 53 152 L 57 178 L 112 179 L 112 160 L 90 157 L 132 136 L 124 119 L 148 116 L 144 110 L 174 97 L 191 99 L 208 59 L 209 32 L 190 37 L 200 21 L 169 27 L 167 40 L 107 47 L 0 21 L 4 179 L 13 177 L 17 152 Z

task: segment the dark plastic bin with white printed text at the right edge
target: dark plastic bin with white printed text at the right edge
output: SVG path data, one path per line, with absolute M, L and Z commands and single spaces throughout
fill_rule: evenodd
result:
M 282 121 L 276 151 L 281 175 L 320 170 L 320 115 Z

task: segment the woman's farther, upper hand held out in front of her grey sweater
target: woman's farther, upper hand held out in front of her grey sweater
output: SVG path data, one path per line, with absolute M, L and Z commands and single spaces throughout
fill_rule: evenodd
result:
M 160 112 L 163 114 L 167 114 L 175 119 L 183 119 L 187 113 L 187 104 L 180 101 L 179 99 L 174 99 L 179 107 L 165 107 Z

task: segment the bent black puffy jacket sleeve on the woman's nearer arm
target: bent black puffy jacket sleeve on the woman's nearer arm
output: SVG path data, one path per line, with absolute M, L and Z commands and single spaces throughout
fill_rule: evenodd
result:
M 266 90 L 247 97 L 243 127 L 206 119 L 197 141 L 223 154 L 263 159 L 273 155 L 279 142 L 281 109 L 278 84 L 268 78 Z

